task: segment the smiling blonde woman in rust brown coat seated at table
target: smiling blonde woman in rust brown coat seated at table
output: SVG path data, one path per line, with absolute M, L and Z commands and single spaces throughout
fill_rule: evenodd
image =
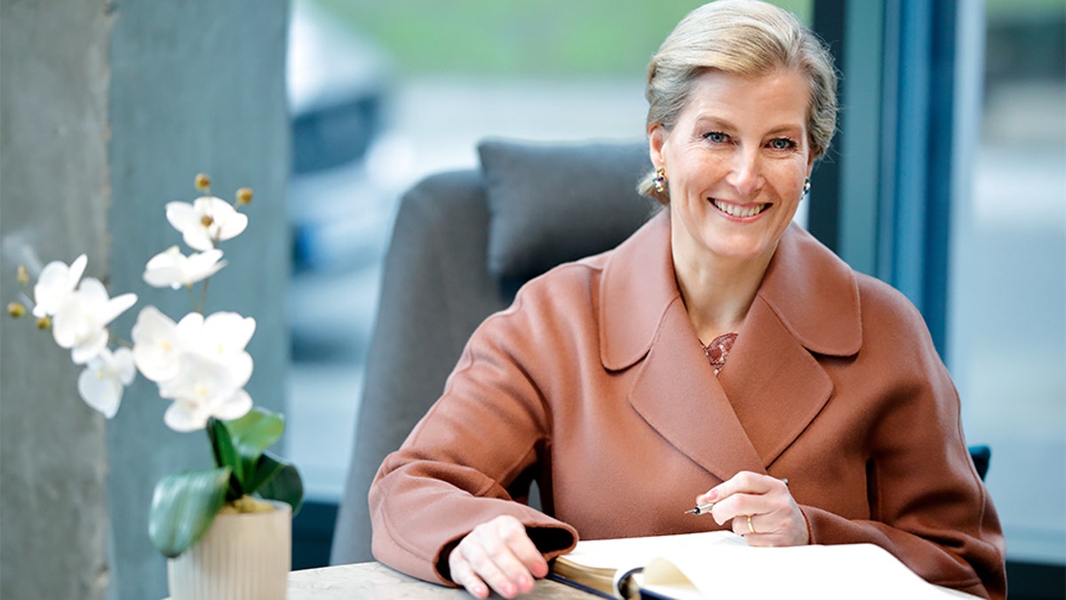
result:
M 770 4 L 678 25 L 647 88 L 642 191 L 666 210 L 474 332 L 371 488 L 379 560 L 512 598 L 579 535 L 728 527 L 753 546 L 872 542 L 1004 596 L 999 521 L 921 317 L 790 225 L 835 88 L 823 46 Z

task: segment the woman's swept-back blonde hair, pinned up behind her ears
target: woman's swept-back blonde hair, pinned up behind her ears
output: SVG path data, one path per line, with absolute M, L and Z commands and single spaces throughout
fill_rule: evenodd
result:
M 710 2 L 674 28 L 648 65 L 647 130 L 661 125 L 669 131 L 689 102 L 693 82 L 708 69 L 758 77 L 778 68 L 807 77 L 808 142 L 814 159 L 820 159 L 829 148 L 837 123 L 833 57 L 794 15 L 758 0 Z M 655 172 L 648 173 L 637 191 L 668 204 L 668 187 L 657 190 L 655 179 Z

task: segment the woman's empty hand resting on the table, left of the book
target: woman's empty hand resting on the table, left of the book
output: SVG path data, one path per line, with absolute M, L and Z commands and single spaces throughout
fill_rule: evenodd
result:
M 518 519 L 503 515 L 482 523 L 448 556 L 452 581 L 474 598 L 487 598 L 491 587 L 504 598 L 533 590 L 534 580 L 548 574 L 548 562 Z

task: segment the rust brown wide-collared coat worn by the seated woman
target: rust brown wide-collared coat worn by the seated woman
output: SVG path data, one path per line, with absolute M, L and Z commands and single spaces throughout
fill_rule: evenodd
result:
M 739 334 L 715 377 L 666 215 L 530 282 L 382 464 L 374 556 L 449 583 L 442 551 L 503 514 L 549 557 L 578 535 L 716 528 L 684 510 L 747 470 L 788 477 L 812 542 L 876 543 L 933 583 L 1003 597 L 1003 537 L 958 395 L 901 294 L 793 225 Z M 522 502 L 531 478 L 544 512 Z

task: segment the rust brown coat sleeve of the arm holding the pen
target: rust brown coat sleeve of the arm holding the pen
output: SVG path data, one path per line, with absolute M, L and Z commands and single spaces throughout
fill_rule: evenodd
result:
M 811 542 L 875 543 L 926 581 L 1001 599 L 999 518 L 970 459 L 958 394 L 924 321 L 902 295 L 879 285 L 863 286 L 862 315 L 858 361 L 883 372 L 873 378 L 881 383 L 867 440 L 871 519 L 802 506 Z

